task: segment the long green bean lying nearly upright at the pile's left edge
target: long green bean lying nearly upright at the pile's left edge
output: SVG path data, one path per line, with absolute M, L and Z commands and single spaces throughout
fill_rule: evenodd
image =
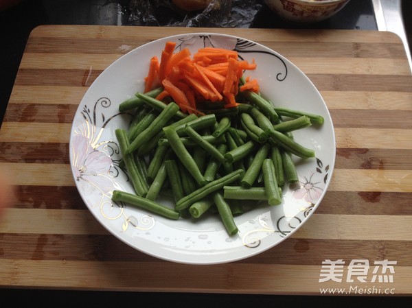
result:
M 146 196 L 146 193 L 148 192 L 148 185 L 146 182 L 144 182 L 143 176 L 141 176 L 141 174 L 139 173 L 133 155 L 126 153 L 128 147 L 126 130 L 117 128 L 115 130 L 115 134 L 117 141 L 119 142 L 120 153 L 122 154 L 128 176 L 130 177 L 130 180 L 133 184 L 133 188 L 139 196 Z

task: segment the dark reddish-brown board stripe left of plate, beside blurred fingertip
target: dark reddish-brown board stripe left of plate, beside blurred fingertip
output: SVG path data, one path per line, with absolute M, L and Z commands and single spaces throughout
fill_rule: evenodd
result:
M 16 186 L 16 209 L 87 209 L 76 186 Z

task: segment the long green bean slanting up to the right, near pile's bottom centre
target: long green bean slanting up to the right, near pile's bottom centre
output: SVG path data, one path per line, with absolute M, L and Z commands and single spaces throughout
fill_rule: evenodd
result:
M 201 200 L 205 198 L 206 196 L 209 196 L 209 194 L 213 193 L 214 191 L 218 191 L 219 189 L 222 189 L 222 187 L 224 187 L 225 185 L 229 185 L 231 182 L 235 182 L 236 180 L 239 180 L 243 174 L 244 174 L 243 170 L 235 170 L 231 172 L 230 174 L 227 174 L 226 176 L 222 176 L 222 178 L 218 178 L 216 180 L 213 180 L 207 183 L 206 185 L 196 189 L 189 195 L 179 200 L 176 203 L 175 209 L 178 211 L 186 209 L 187 207 L 194 204 L 194 202 Z

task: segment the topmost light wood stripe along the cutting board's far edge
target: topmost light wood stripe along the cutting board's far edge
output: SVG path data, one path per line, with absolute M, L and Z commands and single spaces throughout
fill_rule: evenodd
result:
M 162 27 L 161 32 L 157 27 L 108 27 L 104 25 L 84 26 L 87 31 L 82 31 L 79 25 L 41 25 L 30 34 L 31 37 L 41 38 L 124 38 L 125 41 L 139 36 L 141 39 L 163 38 L 174 34 L 185 33 L 221 33 L 248 38 L 254 41 L 268 40 L 276 42 L 346 42 L 346 43 L 386 43 L 400 44 L 399 37 L 391 32 L 358 31 L 354 36 L 351 30 L 319 30 L 301 29 L 290 31 L 289 29 L 236 29 L 236 28 L 202 28 L 202 27 Z M 362 35 L 363 32 L 367 35 Z M 339 34 L 339 35 L 338 35 Z

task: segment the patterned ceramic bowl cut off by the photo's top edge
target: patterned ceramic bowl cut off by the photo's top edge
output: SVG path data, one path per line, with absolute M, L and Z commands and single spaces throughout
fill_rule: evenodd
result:
M 271 10 L 293 23 L 316 23 L 328 19 L 350 0 L 265 0 Z

